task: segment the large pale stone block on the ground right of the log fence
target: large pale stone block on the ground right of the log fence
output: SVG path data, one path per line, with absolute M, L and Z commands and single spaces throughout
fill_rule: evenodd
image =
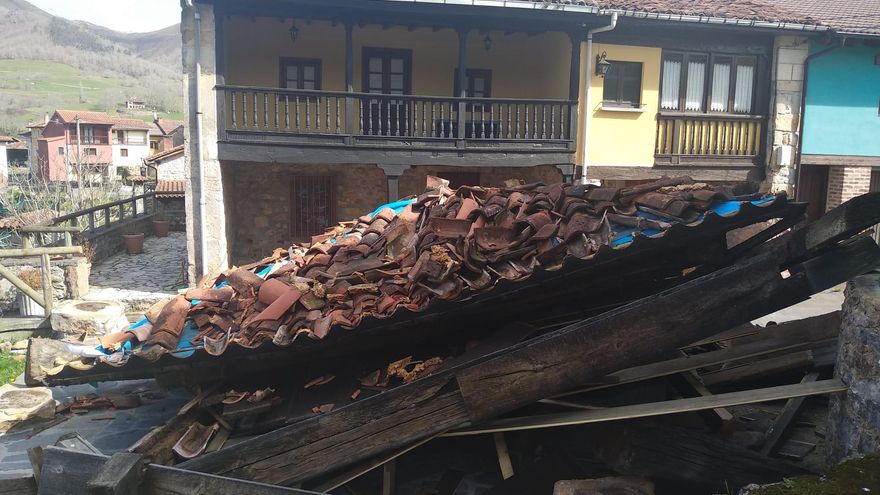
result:
M 64 301 L 50 317 L 56 338 L 79 338 L 118 332 L 128 326 L 125 306 L 115 301 Z

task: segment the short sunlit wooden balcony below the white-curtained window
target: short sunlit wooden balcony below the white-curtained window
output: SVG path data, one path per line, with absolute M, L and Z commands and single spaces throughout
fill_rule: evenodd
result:
M 760 165 L 764 118 L 752 115 L 660 114 L 656 165 Z

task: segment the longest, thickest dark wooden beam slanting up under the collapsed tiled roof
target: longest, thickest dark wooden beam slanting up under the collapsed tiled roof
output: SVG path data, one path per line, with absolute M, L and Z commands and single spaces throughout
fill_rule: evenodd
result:
M 880 248 L 857 253 L 877 263 Z M 753 258 L 512 346 L 184 463 L 187 469 L 292 483 L 478 423 L 807 299 L 856 275 L 862 263 L 832 258 L 833 277 Z M 853 265 L 856 265 L 854 268 Z M 820 265 L 815 265 L 814 268 Z M 516 393 L 511 393 L 515 390 Z

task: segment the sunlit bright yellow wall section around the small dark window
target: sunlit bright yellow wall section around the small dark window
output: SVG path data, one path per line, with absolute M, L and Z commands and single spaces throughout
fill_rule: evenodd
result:
M 584 100 L 578 102 L 579 128 L 583 118 L 590 119 L 588 150 L 589 166 L 636 166 L 650 167 L 654 164 L 657 110 L 660 98 L 659 48 L 593 43 L 593 62 L 596 55 L 606 52 L 611 62 L 642 63 L 642 95 L 644 112 L 613 112 L 602 110 L 602 85 L 604 79 L 590 74 L 590 104 L 584 108 Z M 581 50 L 581 67 L 586 67 L 586 43 Z M 580 93 L 584 92 L 584 78 L 580 81 Z M 580 164 L 583 156 L 583 136 L 579 133 L 576 159 Z

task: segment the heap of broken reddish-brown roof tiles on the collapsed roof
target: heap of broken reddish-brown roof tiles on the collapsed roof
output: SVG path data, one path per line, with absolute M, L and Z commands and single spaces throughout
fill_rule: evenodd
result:
M 192 345 L 222 353 L 230 342 L 286 346 L 354 328 L 364 317 L 426 309 L 491 289 L 500 280 L 553 270 L 566 256 L 589 259 L 634 235 L 662 235 L 698 220 L 728 195 L 687 177 L 630 188 L 527 184 L 461 187 L 431 179 L 397 212 L 384 208 L 315 236 L 309 244 L 224 273 L 154 308 L 148 344 L 178 345 L 184 323 Z M 259 275 L 258 275 L 259 274 Z M 204 286 L 205 284 L 202 284 Z

